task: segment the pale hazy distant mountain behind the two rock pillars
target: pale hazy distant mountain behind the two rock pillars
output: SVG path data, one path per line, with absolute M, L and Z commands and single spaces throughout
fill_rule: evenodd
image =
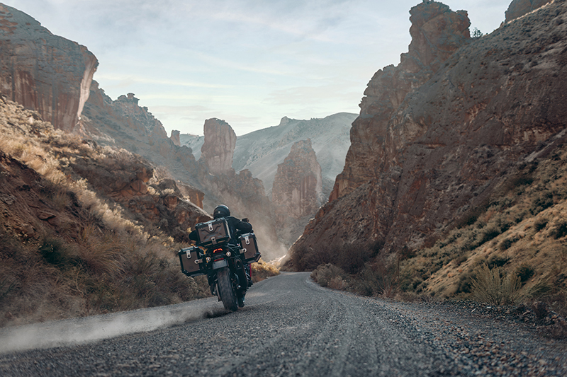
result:
M 342 172 L 350 146 L 349 130 L 356 118 L 356 114 L 349 112 L 310 120 L 283 117 L 277 126 L 237 137 L 232 168 L 250 170 L 254 178 L 264 182 L 266 195 L 271 197 L 278 164 L 288 156 L 296 141 L 310 139 L 322 170 L 322 191 L 328 197 L 335 177 Z M 181 145 L 193 149 L 193 155 L 198 159 L 203 137 L 181 134 L 179 138 Z

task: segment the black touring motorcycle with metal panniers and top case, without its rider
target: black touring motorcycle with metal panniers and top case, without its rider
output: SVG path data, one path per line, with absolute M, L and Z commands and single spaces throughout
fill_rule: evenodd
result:
M 226 310 L 237 311 L 245 305 L 248 289 L 245 264 L 260 259 L 256 236 L 236 234 L 238 244 L 230 243 L 232 235 L 224 218 L 197 224 L 195 230 L 196 246 L 179 250 L 181 272 L 189 277 L 207 275 L 210 293 L 223 301 Z

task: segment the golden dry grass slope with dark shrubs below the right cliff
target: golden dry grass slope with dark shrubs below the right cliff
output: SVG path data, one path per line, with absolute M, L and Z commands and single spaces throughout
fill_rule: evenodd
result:
M 520 279 L 523 300 L 545 300 L 567 291 L 567 152 L 556 149 L 508 180 L 490 204 L 432 248 L 402 262 L 401 289 L 437 298 L 475 298 L 479 291 L 506 291 Z M 481 284 L 483 282 L 483 284 Z M 483 285 L 483 288 L 481 288 Z M 512 284 L 513 286 L 514 284 Z M 498 295 L 497 295 L 498 296 Z

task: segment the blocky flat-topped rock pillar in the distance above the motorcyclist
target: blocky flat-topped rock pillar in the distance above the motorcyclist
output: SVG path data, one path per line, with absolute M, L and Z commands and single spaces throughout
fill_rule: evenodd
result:
M 236 134 L 230 124 L 220 119 L 205 121 L 205 141 L 201 147 L 201 158 L 215 175 L 225 174 L 232 170 L 232 155 L 236 146 Z

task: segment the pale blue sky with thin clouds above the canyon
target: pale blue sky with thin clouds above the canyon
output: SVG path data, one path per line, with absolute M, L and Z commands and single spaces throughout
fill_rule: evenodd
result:
M 139 105 L 182 134 L 210 118 L 237 135 L 282 117 L 359 113 L 378 69 L 410 44 L 420 0 L 2 0 L 99 59 L 107 95 Z M 490 33 L 511 0 L 444 0 L 471 31 Z

